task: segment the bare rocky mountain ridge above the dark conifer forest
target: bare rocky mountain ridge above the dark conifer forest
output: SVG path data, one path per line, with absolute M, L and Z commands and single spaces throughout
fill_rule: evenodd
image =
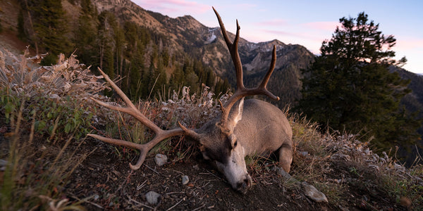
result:
M 107 10 L 120 20 L 133 21 L 144 27 L 167 37 L 169 49 L 185 51 L 197 57 L 214 70 L 219 77 L 228 78 L 232 87 L 235 87 L 235 72 L 231 56 L 223 40 L 219 27 L 207 27 L 185 15 L 178 18 L 169 18 L 166 15 L 146 11 L 129 0 L 94 0 L 99 12 Z M 217 22 L 217 20 L 216 20 Z M 233 39 L 234 34 L 228 32 Z M 242 38 L 238 44 L 238 51 L 244 69 L 246 86 L 257 86 L 269 69 L 271 49 L 276 46 L 276 68 L 269 82 L 269 90 L 281 97 L 279 106 L 294 103 L 300 98 L 301 69 L 307 68 L 314 55 L 304 46 L 284 44 L 274 39 L 254 43 Z

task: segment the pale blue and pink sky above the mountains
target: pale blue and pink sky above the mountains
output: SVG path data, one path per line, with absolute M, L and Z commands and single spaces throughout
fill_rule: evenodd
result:
M 321 42 L 331 39 L 339 19 L 369 15 L 379 23 L 379 31 L 396 38 L 396 59 L 405 56 L 405 70 L 423 73 L 423 1 L 422 0 L 131 0 L 149 11 L 171 18 L 191 15 L 207 27 L 217 27 L 216 8 L 226 30 L 252 42 L 278 39 L 285 44 L 300 44 L 319 54 Z

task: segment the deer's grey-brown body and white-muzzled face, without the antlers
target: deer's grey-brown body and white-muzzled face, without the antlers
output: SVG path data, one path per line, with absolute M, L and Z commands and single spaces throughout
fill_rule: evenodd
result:
M 204 135 L 193 138 L 202 144 L 203 157 L 215 162 L 235 190 L 245 193 L 252 183 L 245 165 L 247 155 L 276 152 L 279 167 L 290 171 L 292 129 L 279 108 L 257 99 L 241 100 L 229 113 L 228 122 L 233 127 L 229 136 L 221 136 L 219 120 L 220 117 L 204 124 L 197 130 L 197 134 Z

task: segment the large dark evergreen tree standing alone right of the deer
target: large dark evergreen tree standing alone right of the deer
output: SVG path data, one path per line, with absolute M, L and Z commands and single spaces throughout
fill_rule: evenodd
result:
M 340 22 L 331 40 L 323 42 L 321 56 L 303 71 L 297 109 L 320 124 L 374 139 L 377 148 L 415 143 L 417 127 L 404 124 L 407 115 L 399 109 L 409 82 L 388 70 L 405 61 L 393 60 L 396 39 L 385 37 L 365 13 Z M 397 133 L 399 128 L 410 133 Z

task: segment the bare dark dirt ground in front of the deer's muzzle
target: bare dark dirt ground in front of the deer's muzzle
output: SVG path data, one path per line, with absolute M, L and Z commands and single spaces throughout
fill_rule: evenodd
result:
M 137 160 L 136 153 L 126 159 L 112 146 L 87 142 L 88 148 L 98 148 L 75 171 L 66 192 L 74 198 L 90 197 L 88 210 L 338 210 L 309 200 L 300 188 L 285 188 L 283 178 L 265 168 L 252 174 L 255 184 L 243 195 L 233 191 L 199 153 L 162 167 L 147 158 L 140 170 L 132 171 L 128 162 Z M 183 175 L 190 179 L 186 185 Z M 147 203 L 149 191 L 161 195 L 158 205 Z

